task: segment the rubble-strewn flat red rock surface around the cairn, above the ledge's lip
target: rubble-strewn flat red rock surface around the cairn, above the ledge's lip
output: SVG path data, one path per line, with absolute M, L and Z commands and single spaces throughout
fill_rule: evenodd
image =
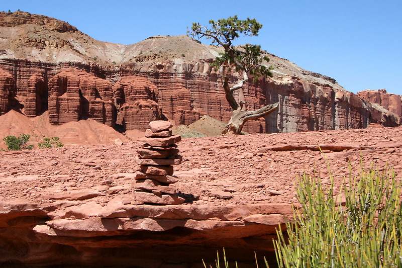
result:
M 52 203 L 55 195 L 96 191 L 102 194 L 91 200 L 105 204 L 129 196 L 138 146 L 0 152 L 1 199 Z M 184 160 L 174 166 L 174 186 L 194 205 L 291 203 L 295 178 L 316 171 L 327 180 L 327 162 L 336 182 L 348 177 L 349 165 L 356 174 L 360 160 L 364 167 L 393 167 L 399 176 L 402 170 L 400 127 L 184 138 L 178 149 Z

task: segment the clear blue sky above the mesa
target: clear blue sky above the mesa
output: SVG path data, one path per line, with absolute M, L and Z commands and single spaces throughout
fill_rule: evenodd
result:
M 94 39 L 134 44 L 154 35 L 186 34 L 192 22 L 208 24 L 238 15 L 263 24 L 260 44 L 299 67 L 335 78 L 357 93 L 385 88 L 402 95 L 401 0 L 0 0 L 0 10 L 53 17 Z M 204 43 L 205 40 L 202 40 Z

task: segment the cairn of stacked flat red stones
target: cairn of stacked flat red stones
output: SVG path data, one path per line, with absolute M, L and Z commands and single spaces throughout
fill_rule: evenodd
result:
M 173 176 L 173 165 L 181 163 L 176 143 L 181 140 L 179 135 L 172 136 L 172 124 L 168 121 L 152 121 L 151 129 L 145 132 L 141 146 L 137 150 L 136 162 L 141 171 L 136 173 L 134 200 L 158 205 L 177 205 L 184 198 L 176 194 L 171 184 L 177 182 Z

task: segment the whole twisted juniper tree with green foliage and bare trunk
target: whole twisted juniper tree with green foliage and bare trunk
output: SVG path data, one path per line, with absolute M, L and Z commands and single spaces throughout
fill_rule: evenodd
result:
M 272 76 L 271 66 L 263 65 L 268 62 L 266 55 L 261 55 L 261 46 L 246 44 L 235 47 L 233 41 L 240 34 L 246 36 L 257 36 L 262 24 L 255 19 L 239 20 L 237 16 L 228 19 L 220 19 L 217 22 L 211 20 L 210 26 L 202 26 L 193 23 L 189 34 L 192 37 L 212 39 L 212 43 L 224 48 L 225 52 L 215 59 L 212 65 L 221 75 L 222 85 L 225 90 L 226 100 L 233 109 L 232 117 L 225 127 L 223 134 L 240 134 L 244 124 L 248 120 L 258 119 L 266 116 L 278 108 L 278 103 L 266 105 L 258 110 L 247 111 L 245 100 L 236 101 L 235 92 L 238 96 L 243 96 L 242 88 L 249 78 L 255 82 L 261 75 Z M 229 74 L 236 72 L 240 75 L 238 82 L 234 85 L 229 84 Z

